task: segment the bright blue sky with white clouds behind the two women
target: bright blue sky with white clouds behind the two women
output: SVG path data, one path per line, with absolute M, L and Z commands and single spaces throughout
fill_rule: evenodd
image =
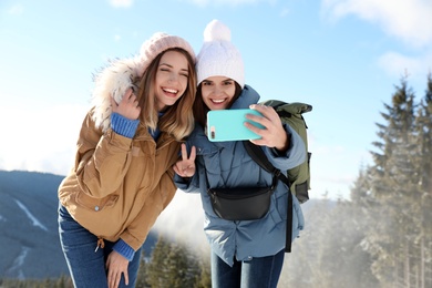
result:
M 431 16 L 431 0 L 2 0 L 0 169 L 65 175 L 92 74 L 157 31 L 198 52 L 205 25 L 219 19 L 263 100 L 313 106 L 305 115 L 311 196 L 348 197 L 405 71 L 424 95 Z

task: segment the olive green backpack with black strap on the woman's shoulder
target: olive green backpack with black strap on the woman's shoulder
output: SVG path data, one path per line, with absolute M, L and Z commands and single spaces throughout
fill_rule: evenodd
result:
M 271 106 L 278 113 L 282 123 L 287 123 L 292 127 L 304 140 L 307 158 L 304 163 L 288 169 L 286 175 L 281 171 L 275 168 L 272 164 L 267 160 L 264 151 L 254 145 L 249 141 L 244 141 L 244 145 L 249 156 L 257 162 L 264 169 L 272 173 L 280 181 L 285 182 L 290 188 L 292 194 L 299 200 L 299 203 L 305 203 L 309 199 L 309 189 L 310 189 L 310 157 L 311 153 L 308 151 L 308 135 L 304 113 L 312 111 L 312 106 L 305 103 L 286 103 L 278 100 L 269 100 L 260 104 Z M 288 217 L 287 217 L 287 239 L 285 251 L 291 251 L 291 228 L 292 228 L 292 198 L 291 193 L 288 194 Z

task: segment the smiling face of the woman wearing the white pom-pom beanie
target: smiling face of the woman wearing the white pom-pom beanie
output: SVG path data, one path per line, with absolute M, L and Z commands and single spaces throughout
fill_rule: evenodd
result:
M 210 76 L 202 83 L 203 101 L 209 110 L 227 109 L 235 92 L 235 81 L 226 76 Z

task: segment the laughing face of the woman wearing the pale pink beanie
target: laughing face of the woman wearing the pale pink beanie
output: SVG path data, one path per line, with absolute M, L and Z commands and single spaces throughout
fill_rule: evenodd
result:
M 177 51 L 167 51 L 162 55 L 155 78 L 157 111 L 173 105 L 183 95 L 188 78 L 185 55 Z

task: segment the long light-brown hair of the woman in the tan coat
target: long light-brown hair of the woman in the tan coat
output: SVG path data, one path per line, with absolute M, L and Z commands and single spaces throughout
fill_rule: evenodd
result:
M 168 106 L 164 112 L 164 115 L 158 120 L 154 83 L 156 81 L 156 72 L 161 58 L 167 51 L 177 51 L 186 56 L 188 70 L 187 88 L 184 94 L 174 103 L 174 105 Z M 158 54 L 144 71 L 140 81 L 137 95 L 141 106 L 140 121 L 144 126 L 153 131 L 158 126 L 161 131 L 173 135 L 177 141 L 189 135 L 194 130 L 192 107 L 196 95 L 195 63 L 189 53 L 181 48 L 173 48 Z

